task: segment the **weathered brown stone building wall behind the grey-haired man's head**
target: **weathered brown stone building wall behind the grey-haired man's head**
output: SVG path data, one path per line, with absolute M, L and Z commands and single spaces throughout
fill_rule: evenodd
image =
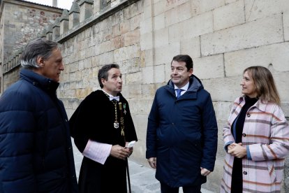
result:
M 61 16 L 62 9 L 40 6 L 27 1 L 3 0 L 0 13 L 0 62 L 3 64 L 1 70 L 5 69 L 3 71 L 5 73 L 8 69 L 13 69 L 13 66 L 17 66 L 14 64 L 15 58 L 20 55 L 24 45 L 36 38 L 38 34 L 43 33 L 50 24 L 54 24 L 56 18 Z M 10 62 L 10 66 L 8 62 Z M 4 66 L 4 64 L 6 65 Z M 2 71 L 0 74 L 2 75 Z M 3 80 L 3 90 L 15 80 L 17 78 Z

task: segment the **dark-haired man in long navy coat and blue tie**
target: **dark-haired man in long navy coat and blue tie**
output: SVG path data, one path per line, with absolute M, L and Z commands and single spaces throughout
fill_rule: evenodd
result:
M 218 138 L 210 94 L 193 76 L 193 60 L 177 55 L 171 80 L 156 91 L 147 124 L 149 165 L 162 193 L 200 192 L 214 170 Z

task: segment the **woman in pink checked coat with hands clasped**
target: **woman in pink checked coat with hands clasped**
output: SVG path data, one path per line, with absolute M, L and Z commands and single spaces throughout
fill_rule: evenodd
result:
M 289 126 L 272 73 L 251 66 L 241 85 L 244 95 L 235 100 L 223 128 L 227 153 L 221 192 L 280 192 Z

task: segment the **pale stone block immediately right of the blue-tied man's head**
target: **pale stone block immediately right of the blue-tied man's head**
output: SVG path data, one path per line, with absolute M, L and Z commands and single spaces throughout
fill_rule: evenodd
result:
M 223 55 L 199 57 L 193 60 L 193 74 L 200 79 L 225 77 Z

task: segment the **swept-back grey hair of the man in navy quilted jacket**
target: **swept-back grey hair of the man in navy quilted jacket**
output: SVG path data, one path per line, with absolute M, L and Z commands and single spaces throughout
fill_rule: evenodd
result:
M 48 59 L 52 52 L 58 48 L 60 48 L 60 44 L 57 42 L 49 41 L 45 38 L 37 38 L 26 45 L 21 55 L 21 66 L 24 69 L 39 68 L 37 58 Z

